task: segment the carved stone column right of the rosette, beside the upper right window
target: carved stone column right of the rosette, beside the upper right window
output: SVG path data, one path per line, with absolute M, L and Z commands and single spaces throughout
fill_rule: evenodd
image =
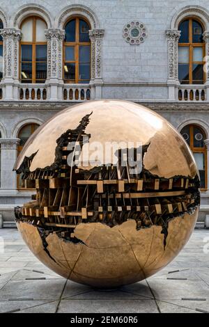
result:
M 180 31 L 169 29 L 166 31 L 168 43 L 168 87 L 169 87 L 169 100 L 178 99 L 178 39 Z

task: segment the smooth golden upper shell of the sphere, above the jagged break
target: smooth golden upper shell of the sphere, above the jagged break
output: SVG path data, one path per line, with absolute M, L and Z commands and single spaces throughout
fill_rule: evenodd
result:
M 57 138 L 67 129 L 75 129 L 91 112 L 91 122 L 86 127 L 86 134 L 91 134 L 89 147 L 95 141 L 102 144 L 140 141 L 142 145 L 151 141 L 144 158 L 145 168 L 150 173 L 167 178 L 196 174 L 196 164 L 187 143 L 167 120 L 144 106 L 121 100 L 89 101 L 56 114 L 31 136 L 17 159 L 15 170 L 20 168 L 24 157 L 37 151 L 29 167 L 31 171 L 52 165 Z

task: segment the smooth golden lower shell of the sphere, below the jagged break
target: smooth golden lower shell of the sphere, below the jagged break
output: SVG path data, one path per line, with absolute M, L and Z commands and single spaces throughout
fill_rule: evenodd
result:
M 134 221 L 109 228 L 101 223 L 80 224 L 75 234 L 84 244 L 65 242 L 56 234 L 46 238 L 51 260 L 36 227 L 17 223 L 24 241 L 38 259 L 64 278 L 93 287 L 117 287 L 144 280 L 173 260 L 187 243 L 199 210 L 169 222 L 164 250 L 160 226 L 136 230 Z

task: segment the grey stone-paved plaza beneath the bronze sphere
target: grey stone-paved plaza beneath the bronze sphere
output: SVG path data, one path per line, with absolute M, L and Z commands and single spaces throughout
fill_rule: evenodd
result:
M 155 276 L 112 291 L 56 275 L 15 228 L 0 230 L 0 237 L 0 312 L 209 312 L 209 230 L 194 230 L 176 260 Z

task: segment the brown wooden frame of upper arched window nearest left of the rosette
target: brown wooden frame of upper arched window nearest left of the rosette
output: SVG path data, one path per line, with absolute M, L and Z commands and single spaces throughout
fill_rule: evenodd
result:
M 89 30 L 91 29 L 91 25 L 85 17 L 76 16 L 76 17 L 70 17 L 70 19 L 68 19 L 68 21 L 65 22 L 64 29 L 66 25 L 73 19 L 75 19 L 75 42 L 66 42 L 65 40 L 63 41 L 63 81 L 65 84 L 77 84 L 79 83 L 79 81 L 86 81 L 86 83 L 88 84 L 90 80 L 79 79 L 79 46 L 88 45 L 91 49 L 91 40 L 89 40 L 89 42 L 79 42 L 79 20 L 80 19 L 84 20 L 84 22 L 88 24 Z M 65 61 L 65 47 L 70 47 L 70 46 L 75 47 L 75 61 Z M 91 51 L 89 57 L 90 57 L 89 74 L 91 79 Z M 65 63 L 75 63 L 75 80 L 65 79 Z M 82 83 L 80 84 L 82 85 Z

